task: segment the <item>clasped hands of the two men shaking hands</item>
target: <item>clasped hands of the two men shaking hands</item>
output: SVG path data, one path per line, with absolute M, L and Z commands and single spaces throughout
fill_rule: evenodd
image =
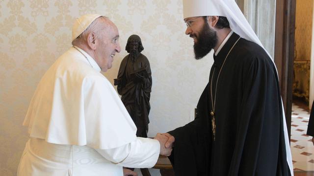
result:
M 157 139 L 160 143 L 160 154 L 170 156 L 175 137 L 169 133 L 157 133 L 154 139 Z

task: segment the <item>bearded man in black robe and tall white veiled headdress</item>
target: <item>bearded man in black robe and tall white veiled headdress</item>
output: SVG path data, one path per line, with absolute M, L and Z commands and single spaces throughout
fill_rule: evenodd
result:
M 235 0 L 183 0 L 183 16 L 214 64 L 196 119 L 164 133 L 176 176 L 293 176 L 277 70 Z

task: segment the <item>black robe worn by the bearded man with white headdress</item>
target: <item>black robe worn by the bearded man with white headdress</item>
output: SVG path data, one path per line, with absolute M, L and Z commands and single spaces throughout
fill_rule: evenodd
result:
M 290 175 L 276 68 L 262 47 L 238 39 L 233 33 L 214 56 L 196 119 L 169 132 L 175 137 L 169 158 L 176 176 Z M 217 75 L 234 44 L 217 82 L 213 140 L 210 82 L 213 76 L 214 95 Z

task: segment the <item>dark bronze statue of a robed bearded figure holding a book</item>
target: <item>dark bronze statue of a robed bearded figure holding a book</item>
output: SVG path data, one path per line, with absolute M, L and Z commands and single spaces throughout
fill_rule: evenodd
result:
M 138 137 L 147 137 L 151 109 L 152 72 L 148 59 L 141 54 L 143 49 L 141 38 L 131 35 L 126 45 L 130 54 L 123 58 L 118 78 L 114 79 L 121 100 L 136 125 Z

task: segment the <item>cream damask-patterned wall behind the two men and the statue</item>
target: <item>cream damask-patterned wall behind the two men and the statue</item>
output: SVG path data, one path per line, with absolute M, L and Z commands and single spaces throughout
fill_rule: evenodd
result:
M 82 14 L 100 13 L 115 22 L 122 48 L 131 34 L 142 38 L 153 76 L 150 136 L 193 119 L 213 60 L 193 59 L 182 10 L 182 0 L 0 0 L 0 176 L 16 175 L 32 94 L 71 46 L 73 21 Z M 117 54 L 105 72 L 111 83 L 125 55 Z

